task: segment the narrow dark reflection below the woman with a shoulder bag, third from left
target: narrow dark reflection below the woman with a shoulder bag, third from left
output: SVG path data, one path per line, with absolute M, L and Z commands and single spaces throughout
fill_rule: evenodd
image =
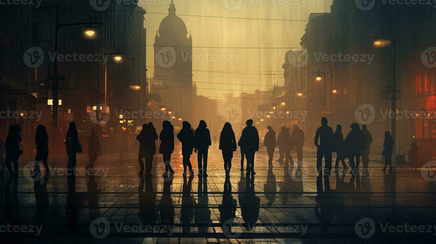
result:
M 76 232 L 78 213 L 77 213 L 77 196 L 75 187 L 75 175 L 71 174 L 67 177 L 67 204 L 65 206 L 65 216 L 68 221 L 68 232 L 74 234 Z

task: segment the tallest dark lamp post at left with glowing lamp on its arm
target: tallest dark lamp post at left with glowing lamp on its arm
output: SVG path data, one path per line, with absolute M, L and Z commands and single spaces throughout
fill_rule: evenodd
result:
M 58 43 L 59 43 L 59 29 L 61 27 L 65 26 L 72 26 L 72 25 L 88 25 L 88 27 L 85 28 L 83 31 L 85 33 L 85 36 L 87 37 L 93 37 L 95 30 L 92 27 L 92 24 L 103 24 L 103 23 L 95 23 L 91 22 L 91 18 L 88 23 L 72 23 L 72 24 L 59 24 L 59 6 L 56 6 L 56 31 L 55 31 L 55 37 L 54 37 L 54 54 L 58 55 Z M 61 76 L 58 74 L 58 58 L 54 58 L 54 66 L 53 66 L 53 135 L 52 138 L 56 140 L 57 134 L 58 134 L 58 81 L 59 79 L 62 79 Z M 57 149 L 58 143 L 54 143 L 54 149 Z

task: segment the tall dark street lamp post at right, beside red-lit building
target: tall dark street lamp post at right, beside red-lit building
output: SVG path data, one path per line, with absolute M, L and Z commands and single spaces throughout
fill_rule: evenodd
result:
M 395 33 L 395 30 L 394 30 L 394 33 Z M 392 60 L 392 85 L 387 85 L 386 88 L 390 89 L 387 91 L 390 92 L 392 95 L 392 97 L 390 98 L 391 102 L 392 102 L 391 136 L 395 142 L 395 134 L 396 134 L 395 132 L 397 129 L 397 126 L 396 126 L 396 118 L 397 118 L 397 112 L 396 112 L 397 106 L 396 105 L 397 104 L 396 104 L 396 102 L 397 102 L 397 92 L 399 92 L 399 90 L 397 90 L 396 77 L 395 77 L 396 76 L 396 74 L 395 74 L 395 59 L 396 59 L 395 58 L 395 35 L 394 35 L 394 40 L 381 39 L 381 38 L 378 38 L 377 36 L 372 37 L 372 40 L 373 40 L 374 47 L 385 47 L 388 45 L 392 45 L 392 52 L 393 52 L 393 54 L 392 54 L 392 56 L 393 56 L 393 60 Z M 382 90 L 382 91 L 384 91 L 384 90 Z M 424 129 L 424 128 L 422 128 L 422 129 Z

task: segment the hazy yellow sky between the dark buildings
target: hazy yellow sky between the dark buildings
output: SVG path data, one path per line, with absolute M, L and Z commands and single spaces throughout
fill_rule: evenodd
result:
M 282 64 L 286 51 L 290 49 L 277 49 L 277 47 L 300 47 L 300 38 L 304 34 L 309 14 L 330 12 L 331 2 L 332 0 L 174 0 L 176 14 L 215 16 L 179 15 L 187 26 L 188 35 L 191 31 L 193 39 L 192 69 L 196 70 L 193 71 L 193 81 L 238 84 L 196 82 L 197 88 L 209 88 L 198 89 L 197 94 L 223 97 L 223 94 L 234 92 L 238 96 L 239 92 L 252 93 L 255 89 L 267 90 L 272 88 L 274 83 L 283 85 Z M 160 21 L 168 14 L 170 0 L 139 0 L 139 3 L 147 12 L 144 21 L 147 28 L 147 44 L 153 45 Z M 263 49 L 214 47 L 263 47 Z M 215 61 L 212 60 L 212 55 L 215 55 Z M 210 61 L 205 60 L 206 56 Z M 147 66 L 153 65 L 153 46 L 147 46 Z M 148 69 L 148 76 L 153 77 L 153 68 Z M 259 72 L 265 74 L 271 71 L 272 74 L 277 75 L 256 75 Z

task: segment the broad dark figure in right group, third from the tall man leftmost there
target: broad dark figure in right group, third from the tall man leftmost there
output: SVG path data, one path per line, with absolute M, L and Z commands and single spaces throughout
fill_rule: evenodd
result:
M 364 148 L 365 140 L 363 134 L 360 130 L 358 123 L 351 124 L 351 131 L 348 133 L 347 138 L 345 138 L 345 145 L 347 147 L 348 154 L 350 155 L 349 160 L 351 164 L 351 172 L 354 175 L 359 174 L 359 164 L 361 150 Z M 354 157 L 356 158 L 356 164 L 354 165 Z

